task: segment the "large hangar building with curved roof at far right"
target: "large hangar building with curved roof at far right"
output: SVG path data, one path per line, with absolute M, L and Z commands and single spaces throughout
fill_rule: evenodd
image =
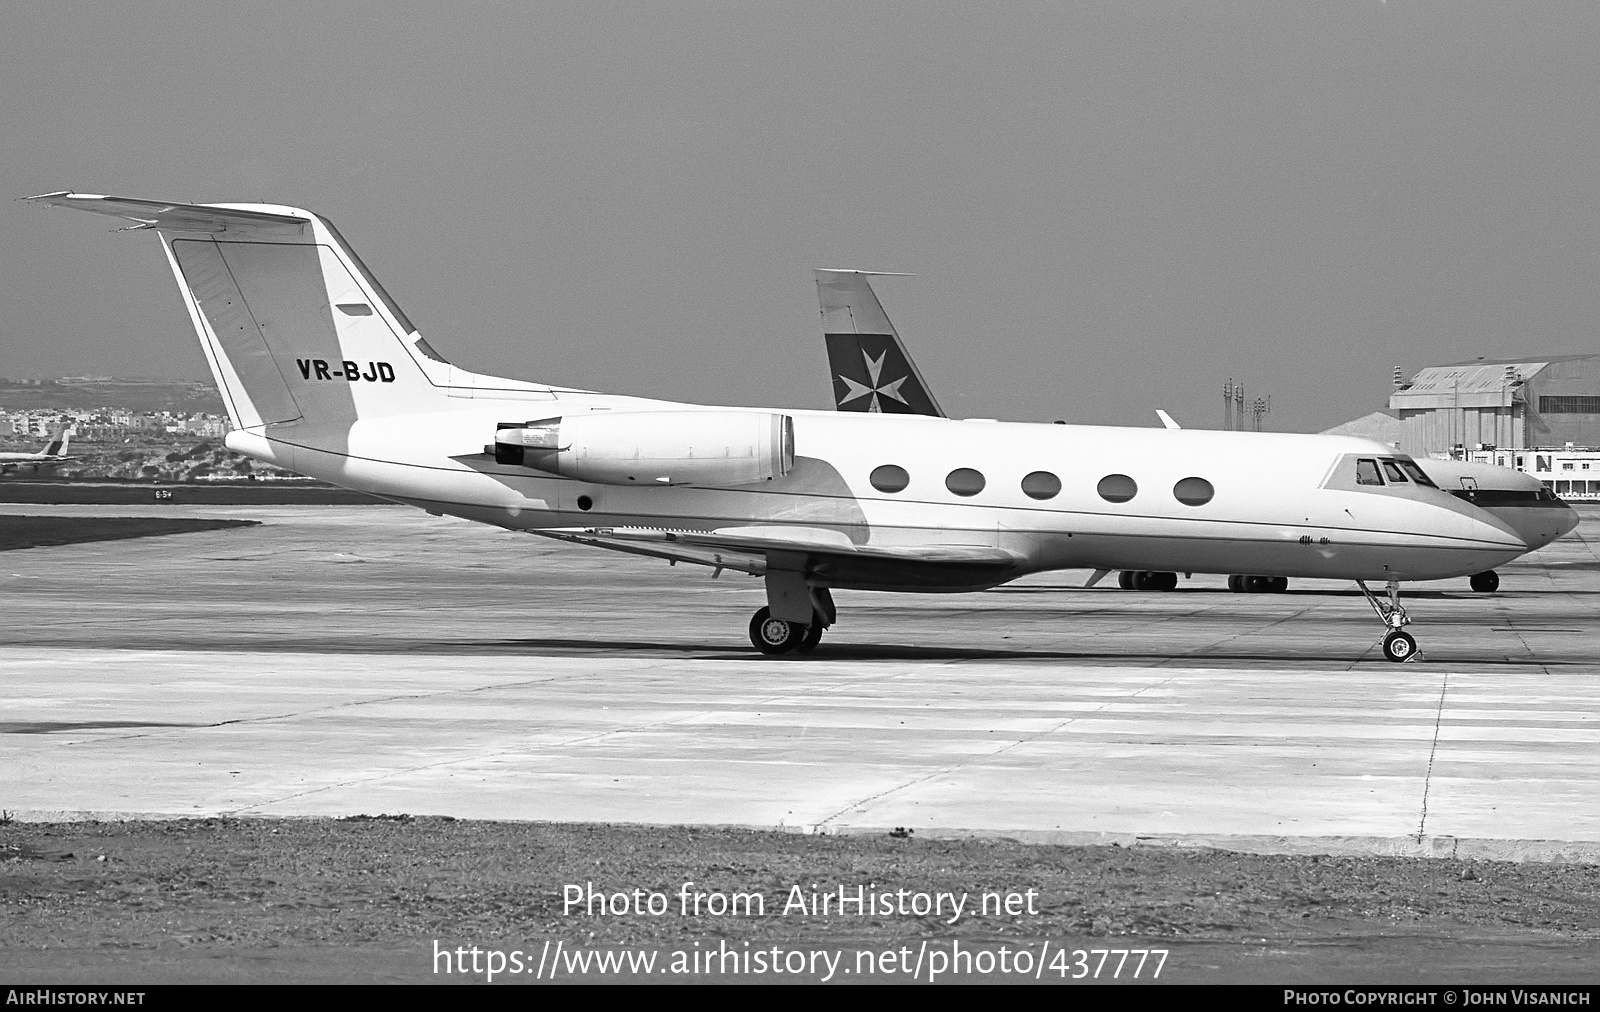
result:
M 1434 365 L 1397 380 L 1389 408 L 1411 456 L 1600 447 L 1600 354 Z

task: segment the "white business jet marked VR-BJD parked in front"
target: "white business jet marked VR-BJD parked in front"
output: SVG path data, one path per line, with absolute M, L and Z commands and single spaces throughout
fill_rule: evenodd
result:
M 1362 439 L 752 410 L 498 380 L 434 351 L 312 211 L 30 200 L 157 234 L 230 450 L 430 512 L 763 576 L 763 653 L 814 647 L 835 589 L 1176 567 L 1382 581 L 1368 600 L 1400 661 L 1416 649 L 1402 581 L 1528 551 Z M 867 378 L 882 400 L 883 376 Z

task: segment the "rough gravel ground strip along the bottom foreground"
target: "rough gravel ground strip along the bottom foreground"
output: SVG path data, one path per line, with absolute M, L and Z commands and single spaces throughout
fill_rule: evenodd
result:
M 589 882 L 606 894 L 659 890 L 669 913 L 565 911 L 563 887 Z M 683 882 L 706 894 L 758 892 L 766 916 L 682 916 Z M 914 913 L 784 914 L 794 886 L 971 900 L 954 924 Z M 1019 913 L 974 914 L 982 892 L 1019 894 Z M 1366 953 L 1366 978 L 1418 980 L 1442 951 L 1477 946 L 1456 961 L 1482 970 L 1474 980 L 1515 967 L 1533 980 L 1600 980 L 1595 865 L 410 817 L 10 823 L 0 826 L 0 975 L 13 980 L 86 980 L 96 966 L 138 975 L 157 964 L 162 980 L 192 978 L 186 966 L 208 980 L 274 978 L 262 967 L 352 980 L 365 978 L 352 964 L 370 964 L 371 953 L 403 954 L 426 974 L 435 938 L 523 950 L 547 938 L 678 948 L 1050 938 L 1203 951 L 1205 966 L 1229 980 L 1270 980 L 1274 966 L 1349 969 L 1352 945 Z M 1330 945 L 1344 945 L 1342 962 L 1325 958 Z M 250 962 L 264 953 L 272 958 Z M 1285 959 L 1274 964 L 1274 953 Z

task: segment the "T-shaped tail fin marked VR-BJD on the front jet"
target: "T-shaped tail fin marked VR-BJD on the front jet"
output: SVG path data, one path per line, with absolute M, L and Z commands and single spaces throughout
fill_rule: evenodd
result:
M 234 428 L 426 412 L 451 392 L 451 365 L 325 218 L 96 194 L 29 200 L 155 229 Z

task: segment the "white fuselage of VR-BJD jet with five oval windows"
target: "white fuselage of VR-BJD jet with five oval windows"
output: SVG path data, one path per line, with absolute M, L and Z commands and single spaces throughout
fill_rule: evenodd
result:
M 739 487 L 619 487 L 498 464 L 483 453 L 499 423 L 589 410 L 712 410 L 592 396 L 462 404 L 459 410 L 357 421 L 318 431 L 267 426 L 229 445 L 339 485 L 506 528 L 661 528 L 709 532 L 760 524 L 838 532 L 854 544 L 970 544 L 1016 556 L 1005 572 L 835 573 L 834 586 L 971 589 L 1029 572 L 1146 564 L 1179 572 L 1272 572 L 1346 580 L 1437 580 L 1482 572 L 1526 551 L 1506 525 L 1421 485 L 1355 488 L 1341 464 L 1394 456 L 1365 440 L 1267 432 L 952 421 L 912 415 L 784 412 L 795 466 Z M 874 487 L 882 466 L 904 469 L 898 492 Z M 968 469 L 971 490 L 947 479 Z M 1043 472 L 1059 492 L 1034 498 Z M 1131 479 L 1126 501 L 1098 487 Z M 1214 495 L 1186 504 L 1184 479 Z M 1048 490 L 1048 482 L 1046 482 Z M 1035 488 L 1037 492 L 1037 488 Z M 1118 496 L 1126 495 L 1120 492 Z

